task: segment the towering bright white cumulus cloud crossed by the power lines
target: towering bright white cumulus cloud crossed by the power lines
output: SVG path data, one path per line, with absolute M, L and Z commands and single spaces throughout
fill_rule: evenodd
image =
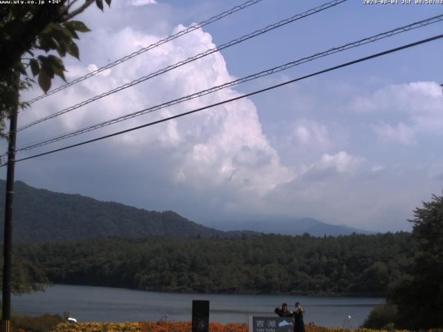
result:
M 172 33 L 183 28 L 185 27 L 177 26 Z M 111 44 L 116 50 L 131 52 L 161 38 L 162 36 L 124 28 L 118 33 L 102 38 L 102 43 L 104 47 L 105 44 Z M 201 29 L 196 30 L 116 66 L 102 75 L 96 75 L 91 80 L 76 84 L 70 90 L 69 97 L 60 94 L 52 99 L 47 98 L 42 101 L 41 105 L 44 107 L 36 109 L 33 115 L 30 115 L 31 112 L 26 115 L 38 117 L 43 113 L 53 113 L 214 47 L 215 44 L 208 33 Z M 100 48 L 100 45 L 96 45 L 96 48 Z M 84 68 L 84 72 L 97 68 L 96 64 L 89 64 Z M 81 72 L 79 68 L 75 69 L 76 72 Z M 233 77 L 228 73 L 224 57 L 215 53 L 66 113 L 51 124 L 46 124 L 45 131 L 86 127 L 94 122 L 123 116 L 230 80 L 233 80 Z M 204 98 L 120 122 L 102 129 L 100 133 L 135 127 L 238 95 L 234 89 L 224 89 Z M 95 133 L 95 136 L 97 135 L 98 133 Z M 293 178 L 291 170 L 282 165 L 278 152 L 264 136 L 257 109 L 248 99 L 125 133 L 103 144 L 105 147 L 96 151 L 93 163 L 100 164 L 100 154 L 109 154 L 109 151 L 112 151 L 115 158 L 130 156 L 135 167 L 154 163 L 162 173 L 168 174 L 163 178 L 165 183 L 179 183 L 197 192 L 217 191 L 217 195 L 226 192 L 226 196 L 237 197 L 237 203 L 244 192 L 262 196 Z M 150 155 L 159 151 L 162 151 L 162 158 L 151 160 Z M 143 185 L 143 182 L 140 185 Z M 226 203 L 226 206 L 228 205 Z

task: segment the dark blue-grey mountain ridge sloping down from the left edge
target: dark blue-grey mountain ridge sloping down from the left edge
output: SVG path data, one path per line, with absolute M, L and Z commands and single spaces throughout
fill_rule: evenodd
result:
M 6 181 L 0 180 L 0 192 Z M 0 199 L 4 214 L 4 199 Z M 3 239 L 3 224 L 1 239 Z M 176 212 L 147 211 L 78 194 L 61 194 L 15 182 L 14 241 L 59 241 L 100 237 L 241 237 L 243 232 L 222 232 L 199 225 Z M 252 234 L 253 232 L 246 232 Z

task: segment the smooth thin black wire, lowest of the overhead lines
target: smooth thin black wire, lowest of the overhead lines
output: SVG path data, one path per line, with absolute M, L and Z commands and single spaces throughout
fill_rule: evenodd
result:
M 404 50 L 405 48 L 410 48 L 410 47 L 417 46 L 417 45 L 420 45 L 420 44 L 424 44 L 424 43 L 427 43 L 427 42 L 432 42 L 433 40 L 440 39 L 440 38 L 443 38 L 443 34 L 442 35 L 437 35 L 437 36 L 434 36 L 434 37 L 431 37 L 431 38 L 428 38 L 428 39 L 422 39 L 419 42 L 414 42 L 414 43 L 411 43 L 411 44 L 406 44 L 404 46 L 399 46 L 397 48 L 391 48 L 390 50 L 385 50 L 385 51 L 380 52 L 380 53 L 369 55 L 368 57 L 361 57 L 360 59 L 356 59 L 356 60 L 351 61 L 351 62 L 346 62 L 345 64 L 340 64 L 338 66 L 334 66 L 334 67 L 331 67 L 331 68 L 324 69 L 323 71 L 317 71 L 316 73 L 312 73 L 312 74 L 309 74 L 309 75 L 298 77 L 296 79 L 289 80 L 289 81 L 286 81 L 286 82 L 283 82 L 283 83 L 280 83 L 280 84 L 275 84 L 275 85 L 269 86 L 269 87 L 267 87 L 265 89 L 260 89 L 260 90 L 257 90 L 257 91 L 253 91 L 251 93 L 246 93 L 245 95 L 239 95 L 238 97 L 230 98 L 230 99 L 224 100 L 222 102 L 217 102 L 215 104 L 210 104 L 210 105 L 205 106 L 205 107 L 200 107 L 199 109 L 194 109 L 192 111 L 180 113 L 180 114 L 177 114 L 176 116 L 170 116 L 168 118 L 164 118 L 164 119 L 157 120 L 157 121 L 154 121 L 154 122 L 150 122 L 150 123 L 147 123 L 147 124 L 142 124 L 141 126 L 133 127 L 131 129 L 126 129 L 126 130 L 123 130 L 123 131 L 118 131 L 116 133 L 111 133 L 109 135 L 100 136 L 100 137 L 94 138 L 92 140 L 86 140 L 84 142 L 80 142 L 80 143 L 76 143 L 76 144 L 69 145 L 69 146 L 66 146 L 66 147 L 62 147 L 60 149 L 54 149 L 54 150 L 51 150 L 51 151 L 46 151 L 46 152 L 44 152 L 42 154 L 35 154 L 33 156 L 29 156 L 29 157 L 26 157 L 26 158 L 17 159 L 17 160 L 15 160 L 15 163 L 17 163 L 19 161 L 23 161 L 23 160 L 37 158 L 39 156 L 46 156 L 47 154 L 53 154 L 55 152 L 63 151 L 63 150 L 66 150 L 66 149 L 71 149 L 73 147 L 79 147 L 80 145 L 89 144 L 91 142 L 96 142 L 98 140 L 103 140 L 105 138 L 110 138 L 110 137 L 113 137 L 113 136 L 118 136 L 118 135 L 121 135 L 122 133 L 128 133 L 129 131 L 134 131 L 134 130 L 141 129 L 141 128 L 144 128 L 144 127 L 150 127 L 150 126 L 152 126 L 154 124 L 159 124 L 161 122 L 173 120 L 175 118 L 181 118 L 182 116 L 187 116 L 187 115 L 192 114 L 192 113 L 197 113 L 199 111 L 203 111 L 204 109 L 210 109 L 212 107 L 216 107 L 216 106 L 219 106 L 221 104 L 226 104 L 228 102 L 233 102 L 235 100 L 239 100 L 239 99 L 242 99 L 242 98 L 250 97 L 251 95 L 256 95 L 258 93 L 263 93 L 265 91 L 269 91 L 269 90 L 278 88 L 280 86 L 284 86 L 284 85 L 287 85 L 287 84 L 290 84 L 290 83 L 293 83 L 293 82 L 298 82 L 298 81 L 301 81 L 301 80 L 305 80 L 305 79 L 307 79 L 309 77 L 313 77 L 313 76 L 316 76 L 316 75 L 327 73 L 329 71 L 335 71 L 336 69 L 339 69 L 339 68 L 350 66 L 352 64 L 357 64 L 359 62 L 364 62 L 364 61 L 367 61 L 369 59 L 374 59 L 375 57 L 381 57 L 382 55 L 387 55 L 389 53 L 394 53 L 394 52 L 397 52 L 399 50 Z M 5 165 L 2 165 L 2 167 L 3 166 L 5 166 Z

